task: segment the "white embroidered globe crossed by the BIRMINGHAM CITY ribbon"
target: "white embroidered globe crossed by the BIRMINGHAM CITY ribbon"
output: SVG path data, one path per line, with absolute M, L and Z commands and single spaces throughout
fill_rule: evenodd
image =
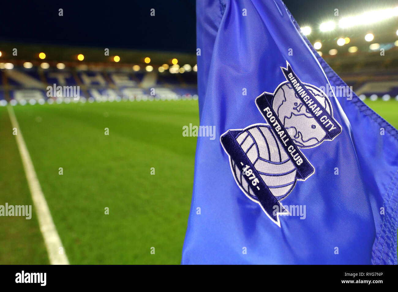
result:
M 322 105 L 323 108 L 320 110 L 322 112 L 326 110 L 332 115 L 332 106 L 326 94 L 312 85 L 306 84 L 305 87 Z M 289 82 L 281 83 L 275 90 L 272 108 L 298 147 L 310 148 L 322 143 L 326 136 L 325 131 L 316 122 L 312 112 L 302 103 Z

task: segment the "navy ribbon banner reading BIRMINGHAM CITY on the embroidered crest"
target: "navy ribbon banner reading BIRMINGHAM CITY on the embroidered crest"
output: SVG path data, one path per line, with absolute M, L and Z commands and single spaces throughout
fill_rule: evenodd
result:
M 333 140 L 334 137 L 341 133 L 341 126 L 339 123 L 326 111 L 314 95 L 310 93 L 300 79 L 298 79 L 289 63 L 287 63 L 287 68 L 281 67 L 281 69 L 286 80 L 292 85 L 297 97 L 307 110 L 312 113 L 312 116 L 319 126 L 325 131 L 325 140 Z M 272 108 L 272 106 L 270 106 L 270 108 Z M 332 109 L 332 107 L 330 108 Z

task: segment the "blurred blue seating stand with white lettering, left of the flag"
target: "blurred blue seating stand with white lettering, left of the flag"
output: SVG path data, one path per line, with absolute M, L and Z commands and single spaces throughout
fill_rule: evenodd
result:
M 197 99 L 196 72 L 109 68 L 0 70 L 0 104 Z

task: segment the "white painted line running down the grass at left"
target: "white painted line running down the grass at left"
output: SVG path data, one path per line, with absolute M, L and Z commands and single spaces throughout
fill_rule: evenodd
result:
M 35 206 L 37 219 L 39 220 L 39 227 L 41 234 L 43 234 L 44 243 L 47 248 L 51 265 L 69 265 L 66 257 L 65 249 L 62 246 L 59 238 L 57 228 L 55 228 L 53 218 L 51 217 L 49 206 L 41 190 L 39 180 L 33 167 L 32 160 L 27 150 L 25 141 L 23 140 L 21 129 L 18 125 L 17 118 L 12 106 L 7 106 L 8 114 L 13 128 L 17 128 L 17 145 L 21 154 L 23 169 L 25 170 L 26 180 L 32 195 L 33 205 Z M 62 248 L 62 254 L 59 253 Z

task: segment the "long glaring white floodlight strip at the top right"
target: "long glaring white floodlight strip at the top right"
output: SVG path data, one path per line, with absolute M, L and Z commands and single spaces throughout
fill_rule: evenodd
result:
M 391 17 L 398 16 L 398 7 L 381 10 L 368 11 L 356 16 L 349 16 L 340 19 L 339 27 L 348 28 L 356 25 L 369 25 L 378 21 L 383 21 Z

